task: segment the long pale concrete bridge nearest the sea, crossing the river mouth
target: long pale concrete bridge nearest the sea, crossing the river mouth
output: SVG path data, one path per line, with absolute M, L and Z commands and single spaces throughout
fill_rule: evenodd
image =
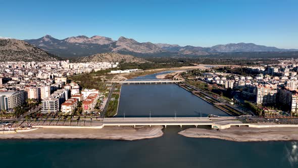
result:
M 104 118 L 103 119 L 103 127 L 104 126 L 133 126 L 136 127 L 138 125 L 211 125 L 212 128 L 215 129 L 226 129 L 230 128 L 231 125 L 247 125 L 243 124 L 235 117 L 137 117 L 137 118 Z

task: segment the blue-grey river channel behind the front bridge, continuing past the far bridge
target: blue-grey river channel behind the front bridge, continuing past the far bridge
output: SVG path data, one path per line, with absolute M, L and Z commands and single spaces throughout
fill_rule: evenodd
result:
M 155 79 L 156 75 L 135 80 Z M 207 117 L 209 114 L 230 116 L 176 84 L 124 84 L 115 117 Z

